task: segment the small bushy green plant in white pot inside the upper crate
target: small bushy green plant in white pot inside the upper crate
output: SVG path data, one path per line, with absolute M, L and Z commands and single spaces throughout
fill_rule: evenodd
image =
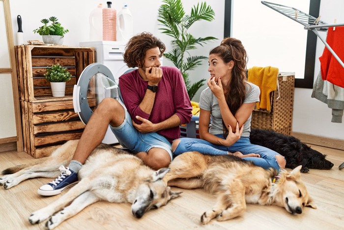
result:
M 72 76 L 67 68 L 63 68 L 60 64 L 52 65 L 47 67 L 47 73 L 44 76 L 50 81 L 53 97 L 64 97 L 66 81 L 69 81 Z

